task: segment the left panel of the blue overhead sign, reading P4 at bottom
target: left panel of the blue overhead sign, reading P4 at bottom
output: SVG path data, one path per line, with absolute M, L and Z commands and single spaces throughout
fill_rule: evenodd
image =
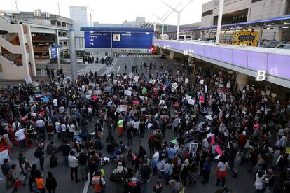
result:
M 111 33 L 85 32 L 85 48 L 111 48 Z

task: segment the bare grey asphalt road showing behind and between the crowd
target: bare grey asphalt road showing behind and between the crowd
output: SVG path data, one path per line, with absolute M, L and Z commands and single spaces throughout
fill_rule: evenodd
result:
M 179 69 L 179 70 L 181 69 L 181 66 L 177 66 L 170 59 L 160 59 L 159 57 L 146 57 L 146 56 L 118 57 L 118 59 L 116 59 L 116 61 L 113 63 L 113 66 L 105 66 L 104 64 L 78 64 L 77 69 L 80 73 L 88 73 L 90 69 L 92 69 L 92 71 L 98 71 L 98 73 L 102 73 L 102 74 L 111 73 L 111 72 L 116 73 L 116 71 L 118 71 L 118 73 L 124 73 L 125 72 L 124 65 L 127 64 L 126 72 L 129 73 L 131 72 L 132 65 L 140 66 L 143 62 L 146 62 L 147 64 L 149 64 L 150 62 L 153 62 L 156 64 L 156 66 L 160 65 L 161 63 L 164 63 L 165 69 L 167 68 L 167 66 L 169 66 L 170 68 L 174 67 L 174 69 Z M 63 64 L 63 65 L 67 69 L 67 71 L 64 71 L 64 73 L 66 74 L 66 76 L 69 76 L 70 69 L 69 67 L 67 67 L 69 66 L 69 64 Z M 140 68 L 138 69 L 138 73 L 141 74 Z M 93 123 L 90 123 L 89 129 L 90 131 L 93 131 L 94 129 Z M 102 143 L 104 144 L 104 147 L 106 147 L 105 139 L 107 136 L 107 132 L 106 132 L 106 129 L 104 130 L 105 130 L 104 138 L 102 139 Z M 139 137 L 135 137 L 133 139 L 133 145 L 130 146 L 129 148 L 132 148 L 133 152 L 137 152 L 139 150 L 139 146 L 142 145 L 146 149 L 146 152 L 149 153 L 147 139 L 149 138 L 149 135 L 152 134 L 152 132 L 153 132 L 152 130 L 146 131 L 146 135 L 144 136 L 143 140 L 141 140 Z M 115 133 L 115 136 L 116 136 L 116 133 Z M 125 137 L 123 138 L 116 137 L 116 138 L 117 138 L 117 141 L 122 140 L 125 144 L 127 143 L 127 139 Z M 166 131 L 166 141 L 169 142 L 172 139 L 174 139 L 173 133 L 170 129 L 168 129 Z M 48 143 L 48 141 L 46 141 L 46 143 Z M 55 145 L 57 146 L 60 145 L 60 142 L 55 142 Z M 102 155 L 103 157 L 108 157 L 105 150 L 106 148 L 103 148 Z M 12 152 L 10 153 L 11 164 L 17 163 L 17 157 L 18 157 L 19 151 L 20 151 L 19 147 L 13 148 Z M 84 182 L 75 183 L 74 181 L 71 181 L 70 169 L 62 166 L 63 160 L 62 160 L 61 154 L 58 153 L 57 156 L 59 157 L 59 165 L 53 169 L 50 169 L 49 156 L 46 156 L 46 160 L 45 160 L 46 171 L 44 171 L 43 173 L 43 178 L 46 179 L 47 171 L 53 172 L 53 175 L 57 179 L 57 183 L 58 183 L 56 192 L 69 192 L 69 193 L 94 192 L 92 187 L 87 185 L 88 183 L 84 183 Z M 38 159 L 34 157 L 34 149 L 25 150 L 25 157 L 27 157 L 30 163 L 38 164 Z M 127 166 L 132 166 L 132 165 L 127 162 Z M 39 164 L 38 164 L 38 167 L 39 167 Z M 105 178 L 106 192 L 111 192 L 111 193 L 118 192 L 116 183 L 109 181 L 109 176 L 113 172 L 114 167 L 115 166 L 111 164 L 111 162 L 109 162 L 108 164 L 104 166 L 104 170 L 106 172 L 106 178 Z M 215 167 L 216 167 L 216 163 L 214 163 L 214 168 Z M 232 190 L 235 190 L 236 193 L 254 192 L 254 180 L 253 180 L 254 176 L 250 173 L 247 173 L 246 170 L 247 170 L 246 166 L 240 166 L 238 178 L 232 178 L 231 176 L 233 174 L 233 171 L 232 169 L 229 169 L 228 176 L 226 177 L 226 186 Z M 18 167 L 18 171 L 19 171 L 19 167 Z M 0 174 L 0 178 L 3 178 L 3 176 L 1 175 L 2 173 Z M 23 177 L 19 175 L 19 178 L 21 179 Z M 209 177 L 209 183 L 207 185 L 203 185 L 201 183 L 201 178 L 199 176 L 195 187 L 186 187 L 186 192 L 200 192 L 200 193 L 214 192 L 217 189 L 217 187 L 214 187 L 215 182 L 216 182 L 216 176 L 215 176 L 214 169 L 212 169 L 212 173 L 210 174 L 210 177 Z M 155 185 L 155 183 L 156 183 L 156 176 L 151 176 L 151 179 L 147 185 L 147 192 L 152 192 L 152 187 L 153 185 Z M 172 188 L 169 185 L 164 185 L 163 187 L 164 187 L 163 192 L 172 192 Z M 5 190 L 5 180 L 0 181 L 0 192 L 12 192 L 11 189 L 7 191 Z M 29 192 L 29 187 L 28 186 L 21 187 L 18 192 L 23 192 L 23 193 Z

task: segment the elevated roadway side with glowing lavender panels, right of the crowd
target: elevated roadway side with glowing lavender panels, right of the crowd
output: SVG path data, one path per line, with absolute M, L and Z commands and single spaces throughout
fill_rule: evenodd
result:
M 266 71 L 266 81 L 290 88 L 290 50 L 257 48 L 242 45 L 214 45 L 212 43 L 153 40 L 154 45 L 227 69 L 256 77 L 257 71 Z

